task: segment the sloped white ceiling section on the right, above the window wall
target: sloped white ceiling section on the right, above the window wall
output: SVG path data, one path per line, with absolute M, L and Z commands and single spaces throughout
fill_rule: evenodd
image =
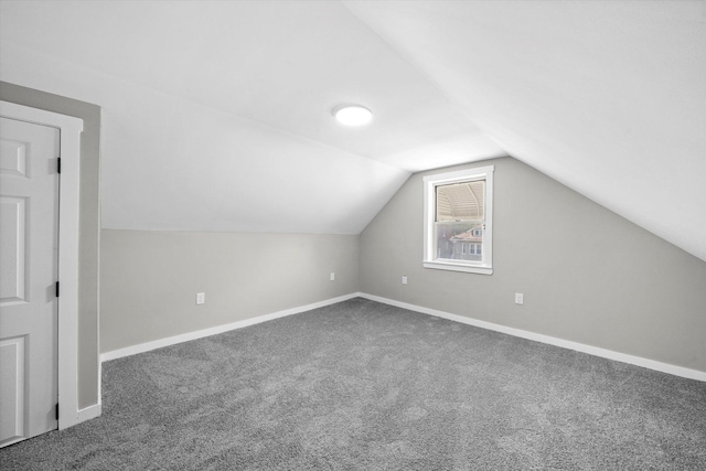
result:
M 706 2 L 345 4 L 510 154 L 706 259 Z

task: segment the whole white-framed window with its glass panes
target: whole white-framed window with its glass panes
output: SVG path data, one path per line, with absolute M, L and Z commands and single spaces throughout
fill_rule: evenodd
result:
M 424 178 L 424 266 L 493 272 L 493 165 Z

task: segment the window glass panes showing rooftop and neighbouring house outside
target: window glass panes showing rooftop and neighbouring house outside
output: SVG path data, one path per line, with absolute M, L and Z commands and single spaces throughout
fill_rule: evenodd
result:
M 482 260 L 485 180 L 436 186 L 437 258 Z

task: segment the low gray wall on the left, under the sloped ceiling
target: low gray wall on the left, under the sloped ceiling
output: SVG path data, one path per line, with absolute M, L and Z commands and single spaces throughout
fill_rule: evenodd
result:
M 356 292 L 357 263 L 356 235 L 103 229 L 100 350 Z

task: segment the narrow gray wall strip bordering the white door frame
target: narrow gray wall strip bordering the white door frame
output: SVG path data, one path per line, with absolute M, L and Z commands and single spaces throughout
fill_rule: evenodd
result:
M 100 107 L 0 82 L 0 99 L 84 120 L 78 232 L 78 408 L 98 403 Z

